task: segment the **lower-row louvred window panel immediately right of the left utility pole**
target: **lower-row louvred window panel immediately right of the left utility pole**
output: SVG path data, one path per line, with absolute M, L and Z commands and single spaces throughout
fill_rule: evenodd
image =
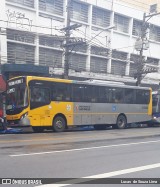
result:
M 86 56 L 71 54 L 69 57 L 69 67 L 75 71 L 85 71 L 86 70 Z

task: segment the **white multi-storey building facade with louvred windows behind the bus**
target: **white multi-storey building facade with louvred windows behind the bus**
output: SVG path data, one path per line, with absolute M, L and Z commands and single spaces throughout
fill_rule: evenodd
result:
M 25 74 L 40 71 L 51 76 L 62 75 L 66 39 L 63 28 L 67 25 L 68 10 L 70 24 L 81 24 L 70 33 L 77 44 L 69 47 L 69 76 L 136 82 L 139 51 L 135 42 L 141 36 L 143 14 L 149 13 L 149 3 L 1 0 L 0 6 L 0 60 L 4 73 L 10 70 L 14 76 L 16 71 Z M 144 59 L 147 66 L 159 67 L 160 16 L 153 16 L 147 24 L 149 48 L 144 50 Z M 110 26 L 114 28 L 108 29 Z M 82 39 L 85 42 L 78 43 Z M 158 76 L 158 73 L 148 74 L 143 82 L 158 84 Z

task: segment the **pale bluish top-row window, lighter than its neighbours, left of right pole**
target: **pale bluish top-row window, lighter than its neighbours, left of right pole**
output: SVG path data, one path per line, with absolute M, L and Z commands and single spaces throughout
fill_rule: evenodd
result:
M 114 24 L 115 24 L 114 30 L 128 33 L 129 18 L 115 14 L 114 15 Z

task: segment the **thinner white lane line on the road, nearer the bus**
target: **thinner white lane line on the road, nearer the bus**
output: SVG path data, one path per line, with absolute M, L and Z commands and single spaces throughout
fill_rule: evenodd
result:
M 34 156 L 34 155 L 44 155 L 44 154 L 54 154 L 54 153 L 63 153 L 63 152 L 74 152 L 74 151 L 84 151 L 84 150 L 92 150 L 92 149 L 103 149 L 103 148 L 111 148 L 111 147 L 122 147 L 122 146 L 130 146 L 130 145 L 140 145 L 140 144 L 149 144 L 149 143 L 159 143 L 160 140 L 148 141 L 148 142 L 136 142 L 136 143 L 128 143 L 128 144 L 114 144 L 114 145 L 106 145 L 99 147 L 84 147 L 79 149 L 66 149 L 59 151 L 48 151 L 48 152 L 37 152 L 37 153 L 22 153 L 17 155 L 10 155 L 11 157 L 20 157 L 20 156 Z

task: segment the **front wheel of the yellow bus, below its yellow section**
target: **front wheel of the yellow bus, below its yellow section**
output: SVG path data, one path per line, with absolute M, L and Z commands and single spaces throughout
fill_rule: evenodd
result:
M 66 129 L 66 121 L 63 117 L 57 116 L 53 121 L 53 131 L 63 132 Z

